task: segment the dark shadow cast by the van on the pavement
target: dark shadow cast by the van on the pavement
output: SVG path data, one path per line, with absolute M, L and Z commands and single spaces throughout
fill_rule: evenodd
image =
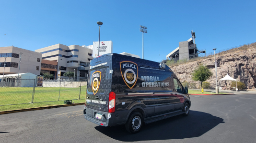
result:
M 137 142 L 198 137 L 220 123 L 225 123 L 222 118 L 206 112 L 190 110 L 187 117 L 179 115 L 144 125 L 140 133 L 137 134 L 128 133 L 124 125 L 96 126 L 95 129 L 118 141 Z

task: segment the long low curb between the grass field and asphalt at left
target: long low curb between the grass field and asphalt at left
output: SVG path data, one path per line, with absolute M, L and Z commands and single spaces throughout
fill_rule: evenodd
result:
M 36 107 L 36 108 L 27 108 L 27 109 L 18 109 L 18 110 L 8 110 L 8 111 L 1 111 L 0 114 L 8 114 L 8 113 L 13 113 L 13 112 L 24 112 L 24 111 L 33 111 L 33 110 L 42 110 L 42 109 L 51 109 L 51 108 L 76 106 L 76 105 L 84 105 L 84 104 L 85 104 L 85 102 L 64 104 L 64 105 L 45 106 L 45 107 Z

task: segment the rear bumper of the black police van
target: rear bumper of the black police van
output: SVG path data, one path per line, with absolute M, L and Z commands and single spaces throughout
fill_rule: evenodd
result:
M 100 120 L 98 120 L 98 119 L 95 119 L 95 118 L 93 118 L 93 117 L 87 115 L 87 114 L 86 114 L 86 109 L 88 109 L 88 108 L 85 107 L 84 110 L 83 110 L 84 119 L 86 119 L 86 120 L 88 120 L 88 121 L 90 121 L 90 122 L 92 122 L 92 123 L 95 123 L 95 124 L 97 124 L 97 125 L 100 125 L 100 126 L 105 126 L 105 127 L 107 127 L 107 126 L 112 126 L 112 125 L 113 125 L 113 118 L 114 118 L 114 117 L 113 117 L 113 114 L 112 114 L 112 113 L 99 112 L 99 111 L 97 111 L 97 112 L 102 113 L 102 114 L 105 114 L 105 115 L 111 114 L 111 117 L 110 117 L 110 118 L 107 118 L 107 119 L 106 119 L 106 122 L 104 122 L 104 121 L 100 121 Z M 90 110 L 92 110 L 92 109 L 90 109 Z M 93 110 L 93 111 L 94 111 L 94 110 Z

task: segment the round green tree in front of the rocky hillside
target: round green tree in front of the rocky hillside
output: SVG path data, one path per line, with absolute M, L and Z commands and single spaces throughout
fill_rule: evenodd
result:
M 210 72 L 210 70 L 203 65 L 199 65 L 199 67 L 192 73 L 192 79 L 194 81 L 201 82 L 201 88 L 202 83 L 208 80 L 211 76 L 212 72 Z

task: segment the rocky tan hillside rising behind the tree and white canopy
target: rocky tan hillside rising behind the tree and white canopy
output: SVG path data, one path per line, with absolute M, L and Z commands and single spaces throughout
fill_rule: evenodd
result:
M 245 50 L 233 50 L 233 52 L 224 52 L 216 56 L 217 61 L 217 78 L 218 82 L 227 73 L 237 81 L 244 82 L 247 89 L 256 88 L 256 44 L 249 45 Z M 168 65 L 168 63 L 166 63 Z M 188 62 L 177 66 L 168 65 L 177 75 L 181 82 L 195 82 L 192 80 L 191 73 L 198 65 L 207 66 L 213 73 L 213 76 L 207 81 L 216 83 L 214 56 L 208 56 L 206 59 Z M 230 88 L 232 81 L 222 81 L 221 87 Z

